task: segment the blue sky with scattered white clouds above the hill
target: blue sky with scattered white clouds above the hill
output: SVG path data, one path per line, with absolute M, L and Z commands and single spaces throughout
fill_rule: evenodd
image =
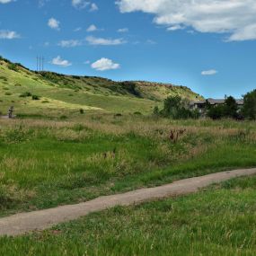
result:
M 254 0 L 0 0 L 0 55 L 239 98 L 256 88 L 255 13 Z

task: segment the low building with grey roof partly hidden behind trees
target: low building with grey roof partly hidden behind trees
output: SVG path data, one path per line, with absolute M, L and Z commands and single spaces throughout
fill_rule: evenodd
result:
M 235 100 L 238 109 L 243 108 L 243 100 Z M 190 110 L 199 110 L 200 113 L 204 113 L 207 108 L 207 104 L 216 107 L 217 105 L 223 105 L 225 104 L 225 99 L 207 99 L 204 101 L 199 101 L 199 102 L 190 102 Z

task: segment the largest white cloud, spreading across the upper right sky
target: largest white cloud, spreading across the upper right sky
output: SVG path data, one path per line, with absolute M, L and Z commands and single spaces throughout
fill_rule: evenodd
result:
M 121 13 L 153 13 L 159 25 L 228 34 L 228 41 L 256 40 L 255 0 L 118 0 Z M 172 31 L 172 29 L 171 29 Z

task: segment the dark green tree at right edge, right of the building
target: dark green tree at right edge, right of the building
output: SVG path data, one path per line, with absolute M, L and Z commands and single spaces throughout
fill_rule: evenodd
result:
M 247 119 L 256 119 L 256 90 L 243 97 L 243 116 Z

